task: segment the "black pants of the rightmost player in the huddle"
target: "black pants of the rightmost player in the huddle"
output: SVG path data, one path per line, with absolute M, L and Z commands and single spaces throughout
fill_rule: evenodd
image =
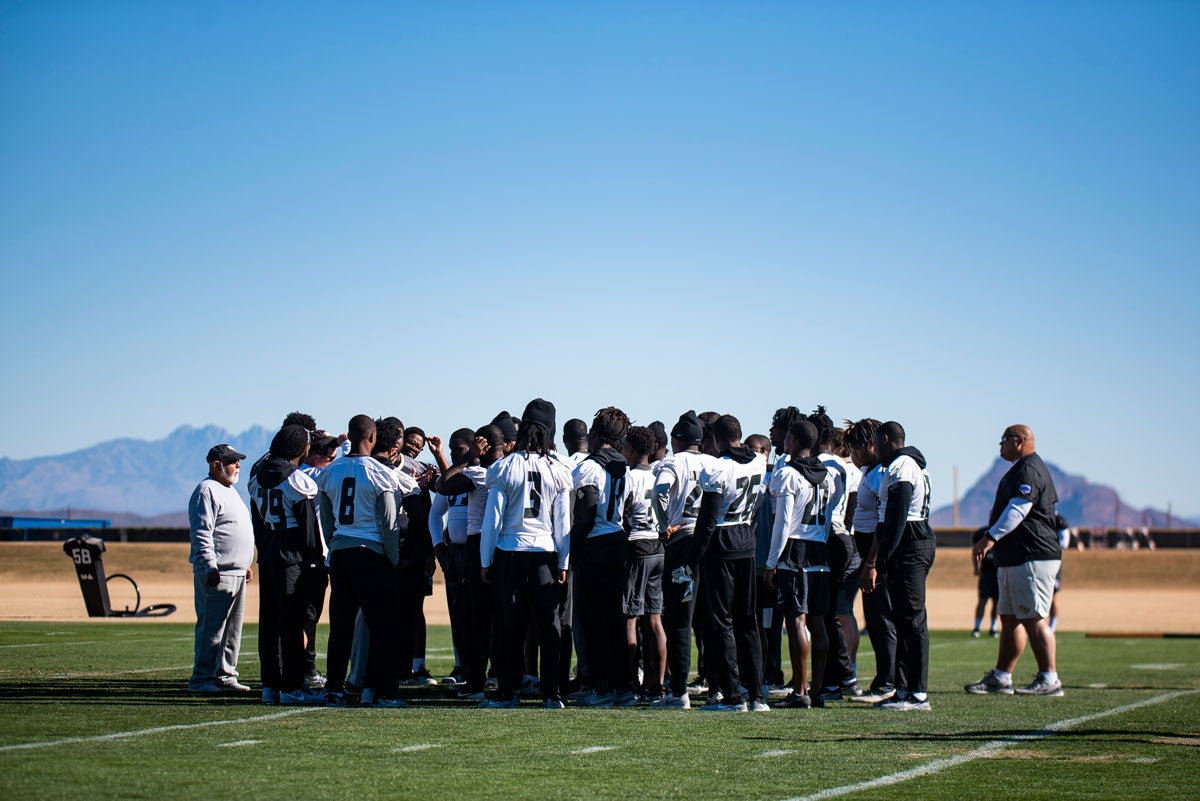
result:
M 896 689 L 923 693 L 929 682 L 929 618 L 925 577 L 934 566 L 936 543 L 911 540 L 888 560 L 888 597 L 896 626 Z

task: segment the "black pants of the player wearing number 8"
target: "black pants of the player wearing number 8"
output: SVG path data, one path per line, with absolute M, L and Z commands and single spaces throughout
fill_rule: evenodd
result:
M 380 697 L 400 683 L 401 633 L 398 573 L 383 554 L 370 548 L 342 548 L 329 566 L 329 692 L 342 692 L 354 643 L 354 619 L 362 609 L 371 632 L 367 686 Z

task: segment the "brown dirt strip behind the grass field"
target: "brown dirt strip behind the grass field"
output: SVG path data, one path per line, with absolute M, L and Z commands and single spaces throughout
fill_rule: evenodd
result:
M 138 583 L 142 603 L 174 603 L 179 610 L 158 620 L 194 620 L 192 574 L 186 543 L 108 543 L 104 570 Z M 971 552 L 943 548 L 929 576 L 931 628 L 970 628 L 976 602 Z M 133 604 L 120 579 L 109 584 L 114 608 Z M 257 620 L 257 588 L 251 584 L 246 618 Z M 1200 632 L 1200 550 L 1070 552 L 1063 566 L 1060 628 L 1094 632 Z M 425 603 L 432 625 L 449 622 L 440 573 Z M 0 543 L 0 619 L 85 620 L 74 567 L 54 542 Z

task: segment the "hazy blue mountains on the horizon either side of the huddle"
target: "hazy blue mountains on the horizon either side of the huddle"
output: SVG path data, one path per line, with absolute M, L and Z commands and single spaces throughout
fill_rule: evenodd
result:
M 217 426 L 181 426 L 164 439 L 116 439 L 62 456 L 34 459 L 0 458 L 0 512 L 38 517 L 102 517 L 116 526 L 187 525 L 187 499 L 208 471 L 204 456 L 217 442 L 228 442 L 253 462 L 270 445 L 274 432 L 254 426 L 233 434 Z M 248 465 L 244 465 L 247 466 Z M 1001 476 L 1008 463 L 996 459 L 962 495 L 959 525 L 988 523 Z M 1076 526 L 1166 525 L 1166 513 L 1138 510 L 1121 501 L 1111 487 L 1048 464 L 1058 490 L 1058 511 Z M 246 496 L 242 474 L 238 490 Z M 934 512 L 935 526 L 953 525 L 953 505 Z M 1196 525 L 1175 519 L 1175 525 Z

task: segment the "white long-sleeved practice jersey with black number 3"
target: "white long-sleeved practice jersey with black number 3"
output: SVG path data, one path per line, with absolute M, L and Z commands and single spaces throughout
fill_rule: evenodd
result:
M 557 552 L 566 567 L 571 472 L 557 453 L 517 451 L 487 469 L 487 508 L 480 560 L 490 567 L 496 549 Z

